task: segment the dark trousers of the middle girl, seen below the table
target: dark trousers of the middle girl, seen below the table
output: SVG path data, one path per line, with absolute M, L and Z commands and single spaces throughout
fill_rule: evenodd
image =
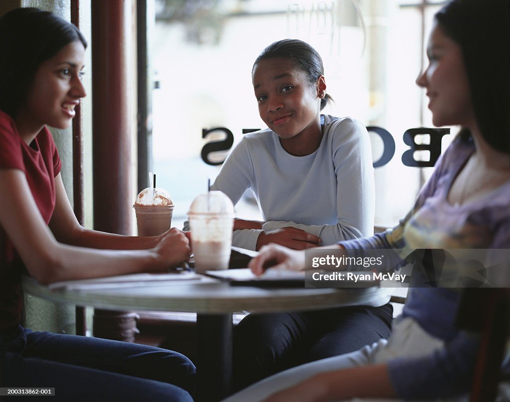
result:
M 393 306 L 249 314 L 234 329 L 234 391 L 299 364 L 361 349 L 391 332 Z

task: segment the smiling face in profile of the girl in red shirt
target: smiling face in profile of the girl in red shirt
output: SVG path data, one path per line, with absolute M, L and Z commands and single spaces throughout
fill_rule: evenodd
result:
M 80 41 L 64 46 L 38 67 L 27 98 L 16 114 L 22 136 L 32 136 L 43 125 L 67 128 L 74 108 L 87 94 L 82 84 L 85 48 Z

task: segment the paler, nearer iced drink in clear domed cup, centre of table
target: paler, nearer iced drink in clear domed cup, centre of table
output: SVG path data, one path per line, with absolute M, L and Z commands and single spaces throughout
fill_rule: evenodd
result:
M 230 261 L 234 205 L 221 191 L 194 199 L 189 210 L 195 271 L 226 270 Z

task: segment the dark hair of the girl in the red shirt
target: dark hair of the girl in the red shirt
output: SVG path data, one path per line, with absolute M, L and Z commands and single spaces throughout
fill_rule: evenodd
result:
M 74 41 L 87 41 L 70 22 L 37 8 L 0 17 L 0 109 L 15 117 L 39 65 Z

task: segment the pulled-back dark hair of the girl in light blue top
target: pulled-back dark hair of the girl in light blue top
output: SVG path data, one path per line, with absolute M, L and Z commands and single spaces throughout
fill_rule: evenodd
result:
M 253 63 L 251 75 L 261 60 L 277 58 L 292 60 L 297 68 L 308 74 L 310 83 L 316 83 L 317 79 L 324 75 L 324 65 L 317 50 L 298 39 L 282 39 L 267 46 Z M 321 99 L 320 110 L 324 109 L 329 100 L 333 98 L 326 94 Z

